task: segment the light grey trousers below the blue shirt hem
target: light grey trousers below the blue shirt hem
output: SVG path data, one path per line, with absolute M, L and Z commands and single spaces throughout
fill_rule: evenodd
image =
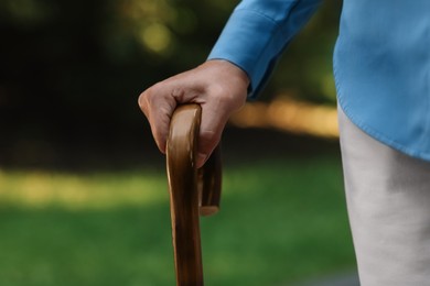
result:
M 430 163 L 374 140 L 341 108 L 338 120 L 361 285 L 430 285 Z

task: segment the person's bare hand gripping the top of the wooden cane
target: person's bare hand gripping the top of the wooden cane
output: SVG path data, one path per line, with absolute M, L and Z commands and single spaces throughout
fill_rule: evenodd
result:
M 218 144 L 229 116 L 245 105 L 248 85 L 249 78 L 243 69 L 213 59 L 148 88 L 140 95 L 139 106 L 158 147 L 165 153 L 174 109 L 181 103 L 198 103 L 202 122 L 196 166 L 202 167 Z

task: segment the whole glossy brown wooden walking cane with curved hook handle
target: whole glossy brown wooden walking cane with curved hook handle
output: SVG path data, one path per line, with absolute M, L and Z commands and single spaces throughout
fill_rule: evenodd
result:
M 202 109 L 179 106 L 173 113 L 166 146 L 166 169 L 178 286 L 203 286 L 198 216 L 215 213 L 221 198 L 221 151 L 195 167 Z

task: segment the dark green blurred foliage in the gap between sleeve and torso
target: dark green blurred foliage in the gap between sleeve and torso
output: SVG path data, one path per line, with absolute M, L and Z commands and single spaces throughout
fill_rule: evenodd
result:
M 323 1 L 322 8 L 287 48 L 269 94 L 284 91 L 300 99 L 335 105 L 332 58 L 341 7 L 342 1 Z

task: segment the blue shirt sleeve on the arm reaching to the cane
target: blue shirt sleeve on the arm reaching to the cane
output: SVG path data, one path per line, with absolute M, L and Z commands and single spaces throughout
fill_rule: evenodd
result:
M 322 0 L 244 0 L 230 15 L 208 59 L 225 59 L 250 78 L 258 95 L 280 54 Z

